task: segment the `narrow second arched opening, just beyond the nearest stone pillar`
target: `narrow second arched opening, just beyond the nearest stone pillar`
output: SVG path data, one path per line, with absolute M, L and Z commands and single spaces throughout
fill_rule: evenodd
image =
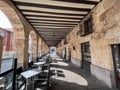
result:
M 29 57 L 32 57 L 33 60 L 37 58 L 37 37 L 34 31 L 31 31 L 29 34 L 29 46 L 28 46 Z

